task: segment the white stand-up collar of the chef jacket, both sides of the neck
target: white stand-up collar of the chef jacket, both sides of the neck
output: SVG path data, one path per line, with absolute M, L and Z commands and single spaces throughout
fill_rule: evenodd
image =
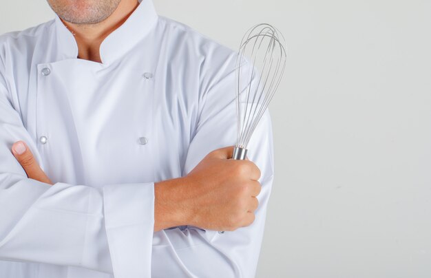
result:
M 101 44 L 101 61 L 109 64 L 126 54 L 154 27 L 158 19 L 152 0 L 138 0 L 138 8 L 130 17 L 109 34 Z M 60 59 L 77 58 L 78 45 L 73 34 L 66 28 L 58 15 L 55 16 L 56 36 Z

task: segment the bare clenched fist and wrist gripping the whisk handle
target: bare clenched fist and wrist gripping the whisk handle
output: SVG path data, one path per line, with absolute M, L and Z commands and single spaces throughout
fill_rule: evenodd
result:
M 260 170 L 249 160 L 230 159 L 232 152 L 212 151 L 186 177 L 156 184 L 156 231 L 180 225 L 234 231 L 253 223 Z

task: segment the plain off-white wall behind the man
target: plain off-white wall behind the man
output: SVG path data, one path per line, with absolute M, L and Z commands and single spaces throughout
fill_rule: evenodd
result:
M 257 277 L 431 277 L 431 1 L 154 3 L 235 50 L 256 23 L 286 37 Z M 0 33 L 52 18 L 2 1 Z

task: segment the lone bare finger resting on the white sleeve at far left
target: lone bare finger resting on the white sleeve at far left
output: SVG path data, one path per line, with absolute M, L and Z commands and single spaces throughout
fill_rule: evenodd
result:
M 23 167 L 25 173 L 27 173 L 28 178 L 52 184 L 51 180 L 36 162 L 36 159 L 34 159 L 32 151 L 30 151 L 30 148 L 25 142 L 15 142 L 14 145 L 12 145 L 12 153 Z

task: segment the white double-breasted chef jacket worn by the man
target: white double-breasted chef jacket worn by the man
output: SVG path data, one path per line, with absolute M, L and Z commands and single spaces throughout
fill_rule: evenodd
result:
M 273 182 L 267 111 L 249 145 L 255 222 L 154 233 L 154 182 L 235 144 L 235 51 L 143 0 L 100 52 L 77 58 L 59 17 L 0 36 L 0 277 L 253 277 Z M 53 186 L 27 178 L 17 140 Z

